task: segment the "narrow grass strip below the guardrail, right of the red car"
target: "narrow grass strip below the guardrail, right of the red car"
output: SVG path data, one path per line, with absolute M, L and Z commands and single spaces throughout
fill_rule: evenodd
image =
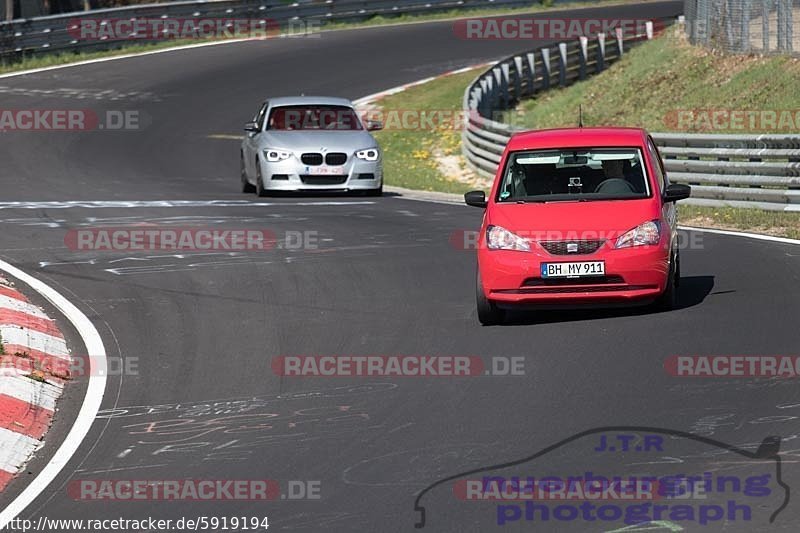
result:
M 684 226 L 746 230 L 800 239 L 800 214 L 797 213 L 681 204 L 680 223 Z

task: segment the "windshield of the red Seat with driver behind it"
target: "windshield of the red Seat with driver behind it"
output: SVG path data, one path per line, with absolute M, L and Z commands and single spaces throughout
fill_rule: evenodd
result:
M 509 155 L 497 201 L 624 200 L 649 195 L 638 148 L 570 148 Z

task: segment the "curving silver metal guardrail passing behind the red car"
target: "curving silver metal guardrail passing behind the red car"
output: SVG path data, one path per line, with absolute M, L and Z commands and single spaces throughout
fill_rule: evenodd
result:
M 462 152 L 470 168 L 493 178 L 511 136 L 503 118 L 523 98 L 566 86 L 618 60 L 641 36 L 582 38 L 506 58 L 464 92 Z M 576 123 L 577 123 L 576 112 Z M 654 133 L 669 179 L 693 185 L 686 203 L 800 212 L 800 136 Z

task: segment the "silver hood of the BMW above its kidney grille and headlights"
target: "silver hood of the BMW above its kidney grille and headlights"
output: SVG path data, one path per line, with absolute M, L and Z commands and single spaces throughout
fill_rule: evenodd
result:
M 369 132 L 360 131 L 265 131 L 259 140 L 263 148 L 295 152 L 349 152 L 372 148 L 378 143 Z

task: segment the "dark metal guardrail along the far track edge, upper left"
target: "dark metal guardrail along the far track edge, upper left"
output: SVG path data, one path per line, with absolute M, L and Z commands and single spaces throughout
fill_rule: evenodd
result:
M 567 0 L 561 0 L 567 1 Z M 118 48 L 131 40 L 81 40 L 69 31 L 77 19 L 141 20 L 225 18 L 289 21 L 350 22 L 377 15 L 423 14 L 451 9 L 530 7 L 531 0 L 192 0 L 144 4 L 112 9 L 63 13 L 0 22 L 0 61 L 13 61 L 41 53 L 81 52 Z M 137 43 L 157 42 L 136 39 Z

